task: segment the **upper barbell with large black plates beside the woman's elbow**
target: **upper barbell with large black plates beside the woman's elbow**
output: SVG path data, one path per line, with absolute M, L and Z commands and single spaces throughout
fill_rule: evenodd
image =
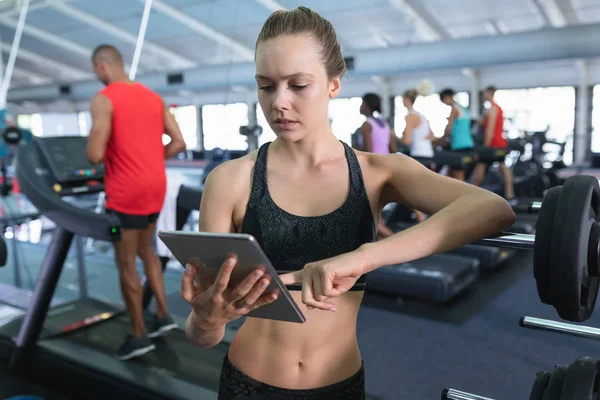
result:
M 593 313 L 600 284 L 600 185 L 588 175 L 568 178 L 548 190 L 540 203 L 535 235 L 502 232 L 475 244 L 533 251 L 540 300 L 567 321 Z

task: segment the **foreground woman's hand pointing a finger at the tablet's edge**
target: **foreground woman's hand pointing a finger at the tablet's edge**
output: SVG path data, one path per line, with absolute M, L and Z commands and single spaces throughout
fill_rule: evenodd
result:
M 285 285 L 302 284 L 302 302 L 309 309 L 337 311 L 328 303 L 332 297 L 346 293 L 364 274 L 367 264 L 360 249 L 317 262 L 303 269 L 281 275 Z

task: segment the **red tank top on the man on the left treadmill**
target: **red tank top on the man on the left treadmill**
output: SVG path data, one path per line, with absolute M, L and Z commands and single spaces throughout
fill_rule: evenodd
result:
M 167 190 L 162 99 L 139 83 L 111 83 L 100 94 L 113 107 L 104 154 L 106 208 L 131 215 L 160 212 Z

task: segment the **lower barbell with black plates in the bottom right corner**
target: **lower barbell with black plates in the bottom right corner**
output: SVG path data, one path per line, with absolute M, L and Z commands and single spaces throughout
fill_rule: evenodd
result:
M 593 400 L 600 395 L 600 361 L 581 357 L 571 365 L 536 374 L 529 400 Z M 492 400 L 456 389 L 444 389 L 442 400 Z

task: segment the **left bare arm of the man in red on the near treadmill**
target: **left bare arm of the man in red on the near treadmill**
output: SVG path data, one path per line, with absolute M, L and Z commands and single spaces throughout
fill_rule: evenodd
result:
M 112 111 L 112 103 L 108 97 L 98 94 L 92 99 L 90 104 L 92 129 L 88 136 L 85 155 L 93 164 L 100 164 L 104 161 L 106 144 L 112 130 Z

